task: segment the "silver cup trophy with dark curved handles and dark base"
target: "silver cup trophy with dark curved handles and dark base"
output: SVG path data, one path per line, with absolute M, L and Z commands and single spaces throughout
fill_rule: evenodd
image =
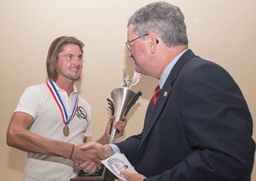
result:
M 109 144 L 114 144 L 116 136 L 118 134 L 118 130 L 114 128 L 114 122 L 118 120 L 122 120 L 123 116 L 126 116 L 130 111 L 130 108 L 136 103 L 139 96 L 142 96 L 142 92 L 135 93 L 132 89 L 130 89 L 133 85 L 136 85 L 140 80 L 140 73 L 134 72 L 134 77 L 130 78 L 126 72 L 123 72 L 123 79 L 121 87 L 112 90 L 110 96 L 113 101 L 110 99 L 106 99 L 109 104 L 109 108 L 111 111 L 111 115 L 115 116 L 114 121 L 111 124 L 110 129 L 110 141 Z M 93 175 L 86 173 L 85 171 L 79 170 L 78 175 L 74 179 L 70 179 L 70 181 L 78 181 L 78 180 L 104 180 L 104 181 L 112 181 L 116 179 L 116 177 L 106 169 L 106 167 L 102 167 L 102 169 Z

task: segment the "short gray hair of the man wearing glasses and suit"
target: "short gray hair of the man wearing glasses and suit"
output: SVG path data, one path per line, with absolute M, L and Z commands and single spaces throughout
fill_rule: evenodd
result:
M 142 36 L 157 33 L 166 46 L 188 45 L 184 15 L 178 6 L 167 2 L 153 2 L 137 10 L 127 27 L 134 26 L 133 33 Z

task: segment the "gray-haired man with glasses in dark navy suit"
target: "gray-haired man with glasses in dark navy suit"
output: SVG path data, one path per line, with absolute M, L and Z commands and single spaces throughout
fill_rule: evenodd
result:
M 250 180 L 255 143 L 246 100 L 225 69 L 188 49 L 181 10 L 166 2 L 142 7 L 130 17 L 126 45 L 136 71 L 159 79 L 158 100 L 141 134 L 82 149 L 124 153 L 139 173 L 123 171 L 129 180 Z

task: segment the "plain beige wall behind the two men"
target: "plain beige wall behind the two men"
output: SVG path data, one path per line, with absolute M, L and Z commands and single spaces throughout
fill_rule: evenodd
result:
M 126 22 L 150 0 L 0 0 L 0 178 L 22 180 L 26 154 L 6 146 L 6 129 L 23 90 L 46 81 L 46 53 L 62 35 L 86 43 L 80 94 L 93 106 L 94 136 L 104 131 L 109 110 L 106 98 L 132 74 L 127 58 Z M 254 0 L 172 0 L 186 16 L 190 48 L 226 68 L 246 96 L 256 118 L 256 2 Z M 133 87 L 143 96 L 130 111 L 127 136 L 141 131 L 146 106 L 157 80 L 142 76 Z M 254 126 L 255 128 L 255 126 Z M 254 134 L 255 139 L 255 134 Z M 255 139 L 256 140 L 256 139 Z M 235 140 L 234 140 L 235 141 Z M 256 180 L 254 169 L 253 180 Z

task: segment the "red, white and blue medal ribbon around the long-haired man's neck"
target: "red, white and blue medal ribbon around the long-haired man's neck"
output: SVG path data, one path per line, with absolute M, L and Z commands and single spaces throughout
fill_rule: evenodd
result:
M 59 108 L 60 112 L 62 113 L 63 123 L 68 125 L 70 123 L 70 121 L 73 120 L 74 115 L 77 112 L 77 109 L 78 109 L 78 95 L 77 95 L 77 98 L 75 100 L 73 112 L 70 116 L 70 119 L 68 119 L 66 108 L 65 108 L 65 106 L 62 102 L 61 96 L 59 96 L 59 94 L 58 94 L 58 90 L 55 88 L 54 83 L 52 81 L 49 81 L 49 82 L 50 82 L 50 84 L 47 81 L 46 85 L 47 85 L 48 89 L 50 90 L 51 95 L 54 97 L 54 100 L 55 100 L 56 104 L 58 105 L 58 108 Z

